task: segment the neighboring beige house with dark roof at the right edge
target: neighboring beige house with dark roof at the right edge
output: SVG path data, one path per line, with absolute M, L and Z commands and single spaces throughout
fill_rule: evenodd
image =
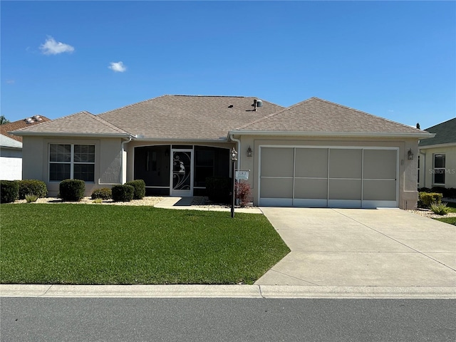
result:
M 435 137 L 420 140 L 418 187 L 456 188 L 456 118 L 426 131 Z

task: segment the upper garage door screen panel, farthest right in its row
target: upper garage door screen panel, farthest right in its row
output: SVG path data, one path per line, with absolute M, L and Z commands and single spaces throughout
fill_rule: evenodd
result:
M 364 150 L 363 178 L 395 180 L 396 150 Z

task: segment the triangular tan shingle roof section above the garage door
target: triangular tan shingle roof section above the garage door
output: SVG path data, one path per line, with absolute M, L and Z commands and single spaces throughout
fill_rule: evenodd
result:
M 236 132 L 299 133 L 397 133 L 427 135 L 423 130 L 395 123 L 361 110 L 348 108 L 320 98 L 309 98 L 289 108 L 240 126 Z

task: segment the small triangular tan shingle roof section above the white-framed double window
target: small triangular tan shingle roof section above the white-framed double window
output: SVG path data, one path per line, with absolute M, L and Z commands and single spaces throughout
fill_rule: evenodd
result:
M 73 115 L 64 116 L 56 120 L 48 121 L 21 130 L 15 130 L 18 135 L 130 135 L 112 123 L 99 118 L 88 112 L 79 112 Z

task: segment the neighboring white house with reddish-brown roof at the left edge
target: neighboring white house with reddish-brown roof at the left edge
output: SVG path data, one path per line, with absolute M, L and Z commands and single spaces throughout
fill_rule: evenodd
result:
M 0 125 L 0 180 L 22 179 L 22 137 L 11 135 L 11 130 L 19 130 L 39 123 L 46 123 L 48 118 L 35 115 L 32 118 Z

